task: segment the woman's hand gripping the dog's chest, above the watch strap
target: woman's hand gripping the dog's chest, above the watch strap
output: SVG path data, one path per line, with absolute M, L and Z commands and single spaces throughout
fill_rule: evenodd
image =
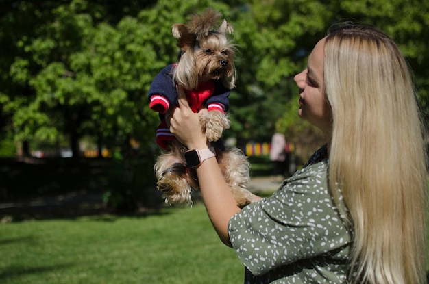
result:
M 177 86 L 177 95 L 179 106 L 166 116 L 170 132 L 188 149 L 206 149 L 208 141 L 199 123 L 199 113 L 194 113 L 189 107 L 186 94 L 180 86 Z M 207 109 L 201 109 L 201 112 L 207 112 Z

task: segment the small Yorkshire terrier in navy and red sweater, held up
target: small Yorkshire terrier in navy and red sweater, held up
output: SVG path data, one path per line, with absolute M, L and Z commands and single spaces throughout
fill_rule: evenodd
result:
M 199 188 L 195 168 L 188 168 L 184 158 L 188 149 L 170 133 L 165 119 L 170 109 L 178 105 L 176 85 L 184 89 L 193 112 L 208 109 L 201 113 L 201 128 L 215 148 L 219 168 L 237 205 L 243 208 L 252 201 L 247 190 L 250 179 L 247 157 L 238 148 L 225 147 L 221 140 L 223 130 L 230 127 L 225 112 L 230 90 L 235 86 L 236 70 L 235 47 L 226 36 L 234 29 L 225 20 L 219 26 L 220 18 L 221 14 L 209 8 L 201 15 L 193 15 L 187 25 L 173 25 L 178 61 L 161 70 L 149 89 L 149 107 L 159 112 L 161 120 L 156 142 L 165 151 L 154 165 L 157 188 L 171 205 L 192 205 L 191 194 Z

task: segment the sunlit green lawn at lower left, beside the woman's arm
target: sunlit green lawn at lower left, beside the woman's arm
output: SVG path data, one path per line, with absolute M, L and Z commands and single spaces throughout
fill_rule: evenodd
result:
M 202 205 L 0 226 L 0 283 L 243 283 Z

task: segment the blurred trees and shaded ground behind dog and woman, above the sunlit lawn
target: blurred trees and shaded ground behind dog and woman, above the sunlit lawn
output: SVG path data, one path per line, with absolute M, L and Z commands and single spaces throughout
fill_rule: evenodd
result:
M 293 76 L 338 21 L 375 25 L 400 44 L 427 127 L 429 1 L 1 0 L 0 202 L 81 192 L 112 211 L 162 203 L 147 91 L 177 59 L 171 25 L 207 7 L 235 29 L 238 81 L 224 138 L 249 156 L 252 177 L 270 175 L 275 132 L 297 161 L 323 144 L 297 116 Z

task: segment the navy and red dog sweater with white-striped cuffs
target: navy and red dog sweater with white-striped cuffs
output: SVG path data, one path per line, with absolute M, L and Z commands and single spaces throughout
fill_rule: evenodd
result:
M 176 65 L 170 64 L 156 75 L 148 94 L 149 107 L 158 112 L 160 116 L 161 123 L 156 129 L 156 143 L 163 149 L 167 149 L 170 140 L 175 140 L 164 118 L 170 107 L 175 107 L 179 104 L 176 86 L 173 83 L 173 68 Z M 184 89 L 184 92 L 186 99 L 188 99 L 189 107 L 193 112 L 199 112 L 203 105 L 207 107 L 208 111 L 217 110 L 222 113 L 228 111 L 230 90 L 225 88 L 221 81 L 199 82 L 197 89 Z

